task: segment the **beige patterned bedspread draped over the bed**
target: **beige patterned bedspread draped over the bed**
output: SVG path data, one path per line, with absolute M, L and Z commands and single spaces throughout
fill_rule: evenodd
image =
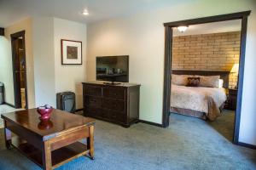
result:
M 171 107 L 204 112 L 208 118 L 209 114 L 213 114 L 212 117 L 219 116 L 218 108 L 226 100 L 224 88 L 186 87 L 175 84 L 172 84 L 171 96 Z

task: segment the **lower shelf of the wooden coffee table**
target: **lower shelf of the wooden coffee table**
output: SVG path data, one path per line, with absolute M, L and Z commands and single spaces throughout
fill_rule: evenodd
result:
M 28 144 L 25 140 L 18 137 L 12 138 L 11 145 L 19 150 L 21 154 L 38 164 L 39 167 L 43 167 L 41 150 L 38 150 L 32 144 Z M 51 152 L 52 168 L 55 169 L 56 167 L 60 167 L 67 163 L 67 161 L 72 161 L 79 156 L 85 156 L 89 151 L 90 150 L 87 150 L 87 145 L 80 142 L 75 142 L 58 150 L 53 150 Z

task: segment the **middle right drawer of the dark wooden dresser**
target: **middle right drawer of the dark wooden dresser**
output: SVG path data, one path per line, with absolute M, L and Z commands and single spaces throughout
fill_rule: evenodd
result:
M 115 99 L 102 99 L 102 108 L 114 111 L 125 111 L 125 101 Z

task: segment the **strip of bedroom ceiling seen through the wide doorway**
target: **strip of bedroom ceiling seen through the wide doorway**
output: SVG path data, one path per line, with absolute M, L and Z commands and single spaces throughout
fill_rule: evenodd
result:
M 241 31 L 241 20 L 227 20 L 201 25 L 192 25 L 189 26 L 188 29 L 184 32 L 177 31 L 177 28 L 174 28 L 173 36 L 189 36 L 230 31 Z

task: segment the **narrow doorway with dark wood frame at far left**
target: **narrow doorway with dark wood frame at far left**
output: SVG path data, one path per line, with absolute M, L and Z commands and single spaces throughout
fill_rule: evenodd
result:
M 15 108 L 27 109 L 25 31 L 11 34 Z

